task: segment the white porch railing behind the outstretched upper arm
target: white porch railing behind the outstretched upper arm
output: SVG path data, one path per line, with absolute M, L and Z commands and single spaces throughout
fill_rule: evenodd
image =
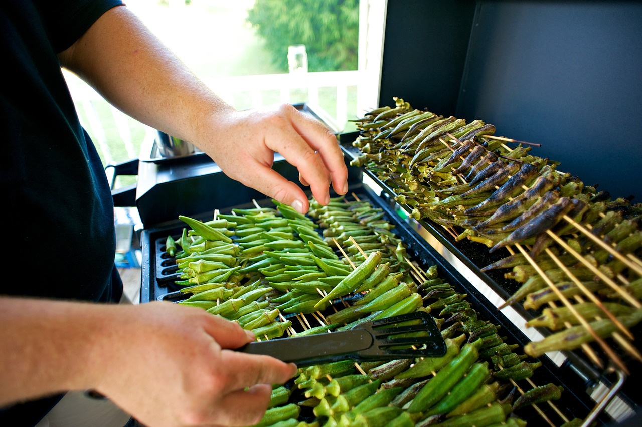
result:
M 98 146 L 103 162 L 108 164 L 138 157 L 147 138 L 154 137 L 155 130 L 110 106 L 76 76 L 65 73 L 65 78 L 81 123 Z M 274 103 L 308 103 L 317 108 L 330 105 L 323 110 L 334 120 L 338 130 L 358 114 L 359 71 L 234 76 L 204 79 L 204 83 L 235 108 L 259 108 Z M 333 111 L 331 107 L 334 107 Z M 117 137 L 109 138 L 108 133 Z M 134 134 L 144 136 L 136 138 L 132 136 Z

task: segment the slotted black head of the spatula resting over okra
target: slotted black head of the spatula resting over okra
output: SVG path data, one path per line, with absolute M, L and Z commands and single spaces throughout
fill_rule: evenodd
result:
M 374 344 L 367 350 L 369 357 L 395 356 L 440 357 L 446 354 L 446 342 L 435 319 L 426 312 L 402 314 L 359 325 L 369 330 Z

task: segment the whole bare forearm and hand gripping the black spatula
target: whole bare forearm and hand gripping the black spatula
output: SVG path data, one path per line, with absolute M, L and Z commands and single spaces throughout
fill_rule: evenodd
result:
M 0 297 L 0 322 L 0 406 L 93 389 L 143 424 L 250 425 L 295 374 L 230 351 L 250 337 L 200 308 Z

